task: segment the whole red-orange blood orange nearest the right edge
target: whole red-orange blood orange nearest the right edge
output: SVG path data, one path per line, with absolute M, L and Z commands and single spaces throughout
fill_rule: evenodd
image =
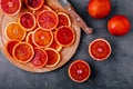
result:
M 125 16 L 114 16 L 108 22 L 109 32 L 113 36 L 124 36 L 130 28 L 131 23 Z

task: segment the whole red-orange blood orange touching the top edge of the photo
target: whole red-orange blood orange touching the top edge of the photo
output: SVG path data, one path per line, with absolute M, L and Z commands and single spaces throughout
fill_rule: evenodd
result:
M 110 0 L 91 0 L 88 12 L 92 18 L 103 19 L 111 12 L 111 2 Z

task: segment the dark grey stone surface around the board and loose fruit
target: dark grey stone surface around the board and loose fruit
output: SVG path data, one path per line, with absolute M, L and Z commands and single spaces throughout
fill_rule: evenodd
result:
M 133 31 L 123 37 L 111 36 L 106 21 L 114 14 L 124 14 L 133 24 L 133 0 L 111 0 L 112 12 L 102 20 L 92 19 L 86 11 L 89 0 L 70 0 L 85 22 L 94 28 L 93 34 L 82 31 L 80 46 L 73 58 L 60 69 L 48 73 L 31 73 L 11 65 L 0 52 L 0 89 L 133 89 Z M 88 44 L 104 38 L 112 46 L 111 57 L 102 62 L 88 55 Z M 73 82 L 68 67 L 73 60 L 83 59 L 91 66 L 92 73 L 83 83 Z

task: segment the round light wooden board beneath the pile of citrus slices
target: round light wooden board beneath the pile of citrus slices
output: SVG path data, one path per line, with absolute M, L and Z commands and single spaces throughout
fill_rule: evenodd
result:
M 54 11 L 66 12 L 58 1 L 55 1 L 55 0 L 45 0 L 45 1 Z M 7 55 L 4 52 L 6 39 L 4 39 L 4 36 L 3 36 L 3 30 L 7 26 L 7 23 L 17 20 L 17 17 L 18 16 L 13 16 L 13 17 L 4 16 L 0 11 L 0 48 L 1 48 L 1 51 L 4 53 L 4 56 L 7 56 Z M 65 65 L 71 59 L 71 57 L 75 53 L 75 51 L 78 49 L 78 46 L 79 46 L 79 42 L 80 42 L 80 37 L 81 37 L 80 27 L 78 26 L 76 21 L 71 16 L 70 16 L 70 18 L 71 18 L 71 21 L 72 21 L 72 28 L 75 30 L 76 38 L 75 38 L 74 43 L 71 47 L 63 48 L 61 50 L 61 61 L 58 66 L 55 66 L 53 68 L 44 67 L 44 68 L 41 68 L 41 69 L 34 69 L 29 63 L 20 63 L 18 61 L 13 60 L 10 57 L 7 57 L 8 60 L 11 63 L 13 63 L 14 66 L 17 66 L 18 68 L 23 69 L 25 71 L 31 71 L 31 72 L 48 72 L 48 71 L 55 70 L 55 69 L 62 67 L 63 65 Z

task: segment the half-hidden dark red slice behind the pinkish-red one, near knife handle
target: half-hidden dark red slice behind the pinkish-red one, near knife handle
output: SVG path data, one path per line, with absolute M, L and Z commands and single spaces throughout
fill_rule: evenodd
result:
M 69 18 L 69 16 L 64 12 L 58 12 L 58 17 L 59 17 L 59 24 L 58 27 L 61 26 L 69 26 L 71 27 L 71 20 Z

